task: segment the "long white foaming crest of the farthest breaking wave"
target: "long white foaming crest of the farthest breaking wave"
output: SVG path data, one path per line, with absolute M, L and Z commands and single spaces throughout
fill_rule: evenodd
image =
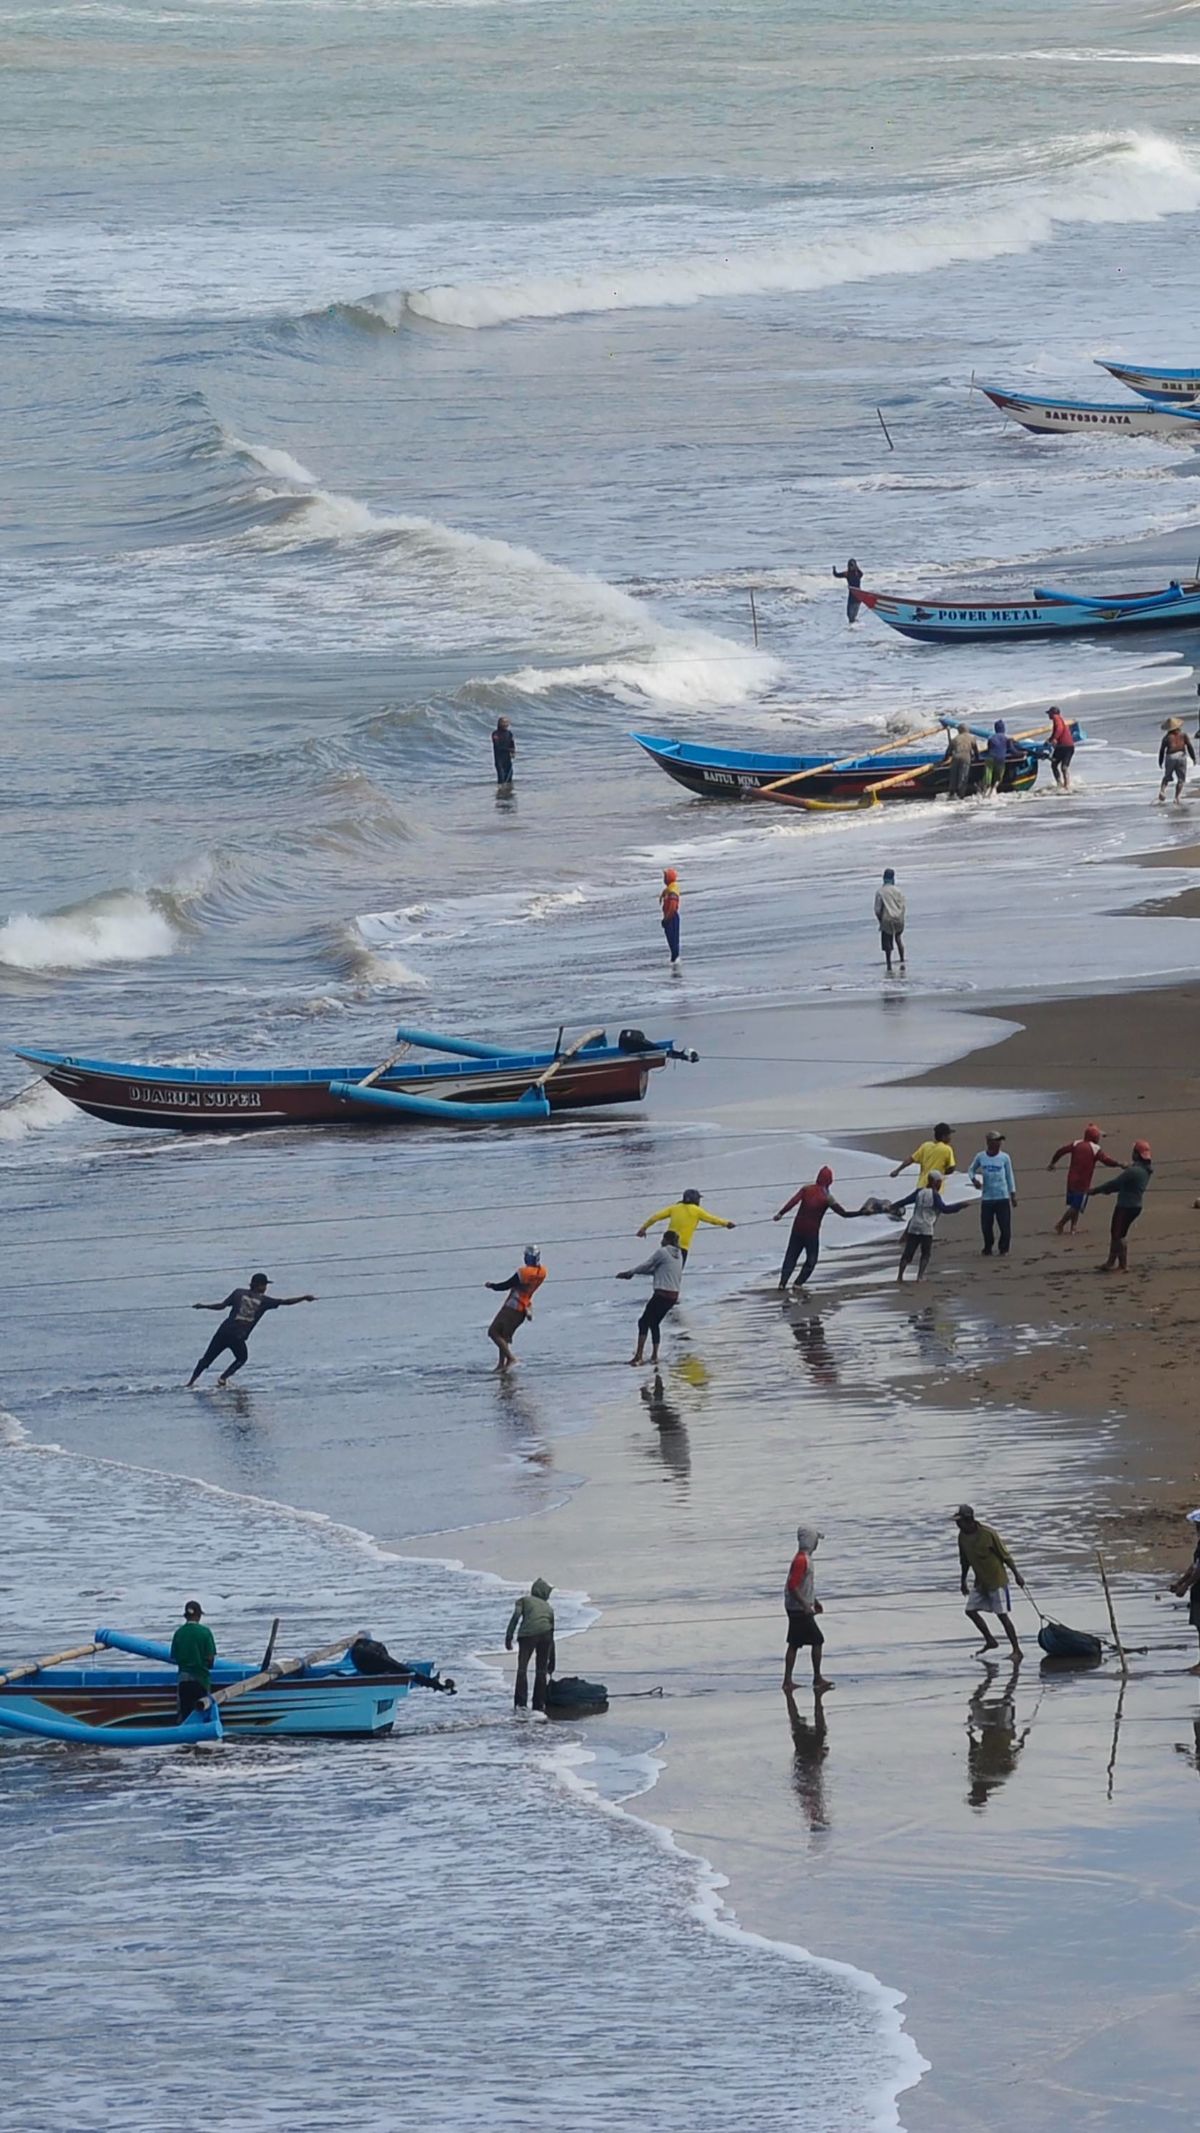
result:
M 1061 143 L 1057 160 L 1059 169 L 972 186 L 957 203 L 925 207 L 919 215 L 904 203 L 899 213 L 887 211 L 870 224 L 859 215 L 818 237 L 797 232 L 776 243 L 755 243 L 752 218 L 746 218 L 744 241 L 723 250 L 648 264 L 614 260 L 584 273 L 392 290 L 362 299 L 356 309 L 388 326 L 426 320 L 480 331 L 526 318 L 801 294 L 1029 252 L 1079 222 L 1157 222 L 1200 207 L 1200 166 L 1160 134 L 1083 134 Z

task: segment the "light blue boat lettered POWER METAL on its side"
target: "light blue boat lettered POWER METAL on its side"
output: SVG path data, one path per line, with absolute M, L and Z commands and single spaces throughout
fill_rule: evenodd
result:
M 908 599 L 859 589 L 859 599 L 889 629 L 919 644 L 972 644 L 1000 638 L 1093 636 L 1113 629 L 1174 629 L 1200 623 L 1200 580 L 1147 593 L 1049 593 L 1029 599 Z

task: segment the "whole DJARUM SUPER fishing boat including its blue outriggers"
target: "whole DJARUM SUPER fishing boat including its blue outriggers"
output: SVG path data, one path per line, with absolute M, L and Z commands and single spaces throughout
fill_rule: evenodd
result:
M 501 1052 L 467 1037 L 396 1030 L 382 1066 L 143 1066 L 17 1052 L 62 1096 L 113 1126 L 213 1133 L 264 1126 L 379 1126 L 396 1122 L 524 1124 L 552 1111 L 642 1103 L 667 1060 L 695 1060 L 669 1037 L 603 1030 L 546 1052 Z M 448 1058 L 416 1060 L 413 1052 Z

